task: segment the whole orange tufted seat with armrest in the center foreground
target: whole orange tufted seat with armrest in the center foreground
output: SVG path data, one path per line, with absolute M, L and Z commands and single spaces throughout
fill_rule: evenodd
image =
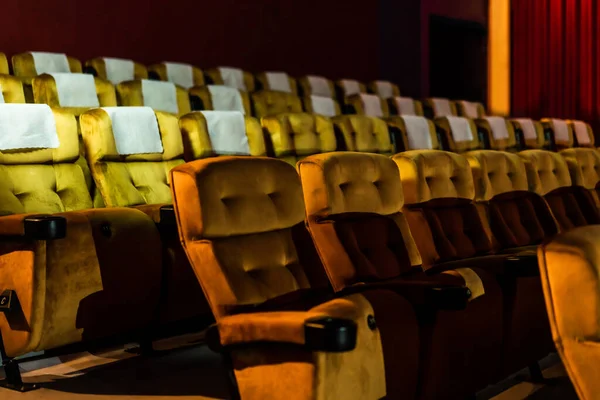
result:
M 308 271 L 323 267 L 292 166 L 216 157 L 171 174 L 181 241 L 217 319 L 207 341 L 231 360 L 242 399 L 414 398 L 414 312 L 393 292 L 332 298 L 313 286 Z M 404 367 L 394 381 L 384 354 Z

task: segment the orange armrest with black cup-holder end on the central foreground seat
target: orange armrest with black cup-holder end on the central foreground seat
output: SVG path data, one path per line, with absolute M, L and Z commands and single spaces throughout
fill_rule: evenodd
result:
M 265 312 L 224 317 L 209 328 L 206 341 L 213 351 L 229 346 L 288 343 L 310 351 L 345 352 L 356 346 L 357 324 L 323 312 Z

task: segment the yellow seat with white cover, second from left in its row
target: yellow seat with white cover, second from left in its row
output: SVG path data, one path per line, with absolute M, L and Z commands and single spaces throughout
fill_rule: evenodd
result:
M 97 108 L 80 117 L 80 126 L 106 207 L 141 210 L 159 229 L 164 253 L 159 321 L 202 322 L 208 307 L 179 243 L 171 206 L 169 171 L 184 163 L 177 117 L 148 107 Z

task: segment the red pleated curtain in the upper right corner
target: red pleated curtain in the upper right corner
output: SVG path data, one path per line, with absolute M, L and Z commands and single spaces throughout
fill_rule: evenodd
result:
M 582 119 L 592 123 L 598 135 L 598 1 L 511 3 L 511 114 Z

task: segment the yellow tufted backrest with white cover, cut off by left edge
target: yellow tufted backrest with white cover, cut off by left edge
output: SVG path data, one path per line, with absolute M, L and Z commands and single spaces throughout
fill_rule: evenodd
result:
M 0 104 L 0 137 L 0 215 L 93 207 L 76 163 L 79 140 L 71 113 L 43 104 Z

